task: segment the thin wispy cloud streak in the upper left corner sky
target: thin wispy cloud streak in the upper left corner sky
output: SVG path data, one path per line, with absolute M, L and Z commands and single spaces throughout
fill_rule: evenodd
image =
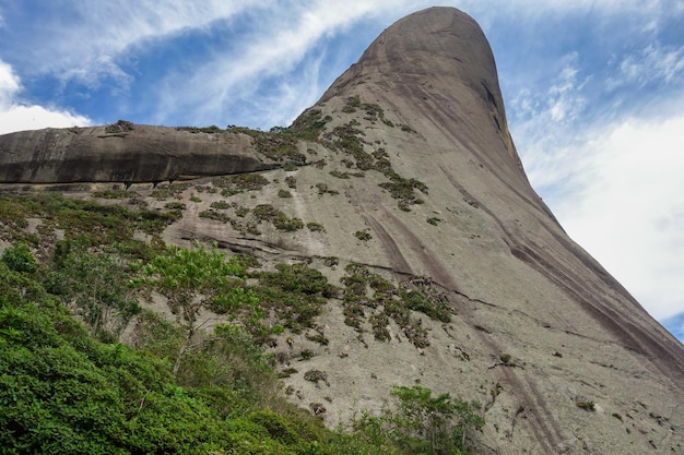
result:
M 30 31 L 24 38 L 33 44 L 30 58 L 36 62 L 37 71 L 78 77 L 91 84 L 103 75 L 120 75 L 114 62 L 125 57 L 131 47 L 190 28 L 208 27 L 214 21 L 229 20 L 247 8 L 258 11 L 270 3 L 227 0 L 68 1 L 52 7 L 51 11 L 37 10 L 39 28 Z M 69 26 L 63 25 L 67 20 Z

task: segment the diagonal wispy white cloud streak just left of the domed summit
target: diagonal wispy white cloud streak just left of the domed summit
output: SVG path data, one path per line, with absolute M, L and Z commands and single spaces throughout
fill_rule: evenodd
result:
M 189 77 L 187 74 L 169 74 L 160 84 L 163 103 L 156 120 L 165 122 L 164 113 L 178 109 L 196 110 L 200 119 L 224 117 L 227 107 L 243 101 L 253 103 L 257 95 L 260 96 L 257 92 L 263 88 L 260 83 L 287 74 L 306 57 L 303 73 L 307 83 L 276 81 L 278 87 L 272 88 L 293 104 L 267 97 L 256 106 L 257 110 L 270 110 L 270 120 L 275 123 L 290 120 L 292 112 L 298 113 L 321 95 L 317 81 L 310 77 L 321 70 L 321 55 L 311 55 L 316 45 L 362 17 L 377 17 L 394 8 L 397 2 L 389 0 L 375 3 L 356 0 L 334 5 L 320 0 L 264 14 L 252 35 L 241 38 L 246 44 L 238 55 L 215 52 L 205 64 L 194 68 Z M 182 91 L 170 88 L 180 85 Z M 292 93 L 293 87 L 297 87 L 296 96 Z

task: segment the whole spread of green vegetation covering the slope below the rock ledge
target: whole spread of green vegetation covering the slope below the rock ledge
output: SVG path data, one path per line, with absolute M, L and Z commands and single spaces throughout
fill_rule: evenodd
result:
M 479 428 L 474 405 L 425 398 L 428 390 L 393 391 L 400 405 L 378 418 L 377 436 L 367 414 L 329 431 L 311 415 L 326 411 L 321 404 L 311 404 L 311 412 L 288 405 L 276 393 L 275 359 L 264 346 L 283 331 L 306 331 L 326 344 L 315 319 L 341 290 L 306 264 L 267 271 L 251 255 L 165 244 L 161 232 L 181 209 L 175 203 L 165 212 L 2 195 L 0 208 L 0 238 L 12 244 L 0 255 L 2 452 L 451 454 L 464 453 L 455 451 L 467 430 Z M 252 212 L 279 215 L 268 206 Z M 43 224 L 30 232 L 28 218 Z M 137 240 L 139 232 L 150 241 Z M 338 262 L 326 259 L 329 266 Z M 399 302 L 402 291 L 416 290 L 394 289 L 361 266 L 349 273 L 344 295 L 373 289 L 378 309 L 382 296 Z M 154 296 L 163 296 L 175 320 L 144 309 Z M 217 316 L 214 328 L 203 325 Z M 132 327 L 128 344 L 119 342 L 125 327 Z M 304 374 L 328 381 L 323 371 Z M 412 400 L 446 420 L 417 427 L 418 415 L 408 420 L 403 407 Z M 457 448 L 445 448 L 447 440 Z

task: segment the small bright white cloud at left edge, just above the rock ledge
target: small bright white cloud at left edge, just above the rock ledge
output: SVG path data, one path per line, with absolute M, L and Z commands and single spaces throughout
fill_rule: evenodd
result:
M 40 128 L 87 125 L 91 121 L 83 116 L 66 110 L 50 109 L 36 105 L 23 105 L 16 100 L 21 81 L 12 67 L 0 60 L 0 134 Z

